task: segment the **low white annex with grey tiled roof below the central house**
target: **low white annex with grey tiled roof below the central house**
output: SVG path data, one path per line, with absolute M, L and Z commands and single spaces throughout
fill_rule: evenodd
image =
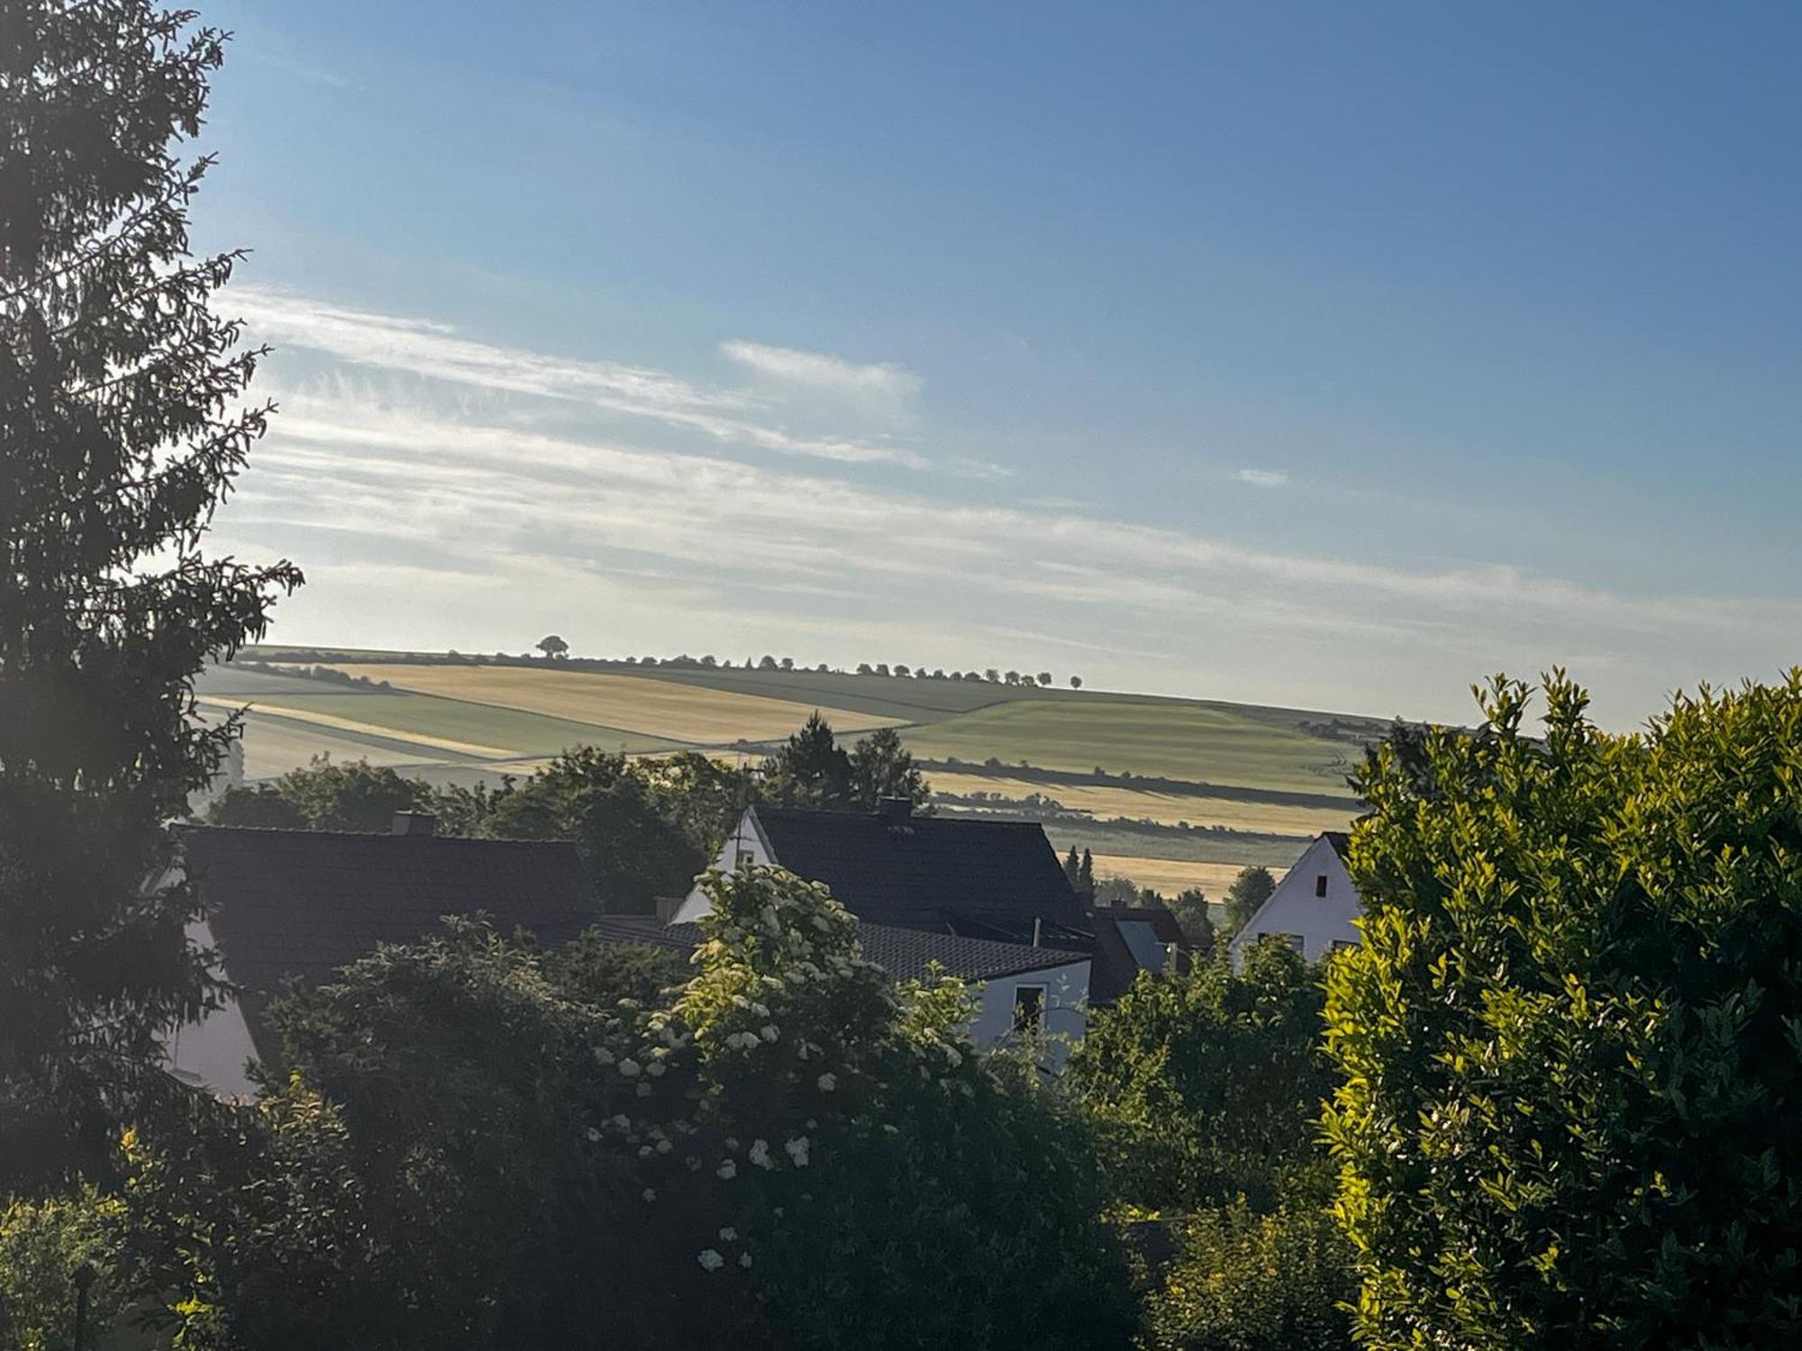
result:
M 595 929 L 613 942 L 642 942 L 679 953 L 690 953 L 701 942 L 694 922 L 665 924 L 638 915 L 604 915 Z M 858 920 L 858 944 L 894 980 L 923 980 L 937 966 L 959 980 L 980 984 L 977 1016 L 969 1023 L 969 1036 L 978 1047 L 1031 1029 L 1054 1038 L 1049 1059 L 1058 1063 L 1067 1043 L 1083 1034 L 1090 980 L 1087 953 L 903 929 L 863 919 Z

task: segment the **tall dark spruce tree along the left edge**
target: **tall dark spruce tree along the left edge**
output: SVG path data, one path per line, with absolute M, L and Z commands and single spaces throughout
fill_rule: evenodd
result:
M 209 310 L 238 256 L 187 245 L 222 54 L 148 0 L 0 4 L 0 1191 L 103 1140 L 204 1000 L 159 879 L 236 730 L 193 677 L 301 580 L 202 551 L 270 411 Z

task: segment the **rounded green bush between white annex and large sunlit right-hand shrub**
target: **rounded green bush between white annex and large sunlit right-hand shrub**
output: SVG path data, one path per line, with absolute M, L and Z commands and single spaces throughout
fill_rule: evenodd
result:
M 1220 955 L 1188 975 L 1141 976 L 1090 1011 L 1069 1075 L 1101 1131 L 1112 1194 L 1151 1209 L 1324 1200 L 1323 998 L 1314 967 L 1261 944 L 1240 973 Z

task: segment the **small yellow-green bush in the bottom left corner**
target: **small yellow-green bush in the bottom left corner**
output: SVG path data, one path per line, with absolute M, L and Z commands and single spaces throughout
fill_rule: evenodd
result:
M 74 1340 L 81 1266 L 96 1272 L 86 1329 L 99 1335 L 123 1311 L 114 1257 L 124 1205 L 83 1187 L 67 1198 L 0 1207 L 0 1346 L 65 1351 Z M 90 1340 L 88 1346 L 94 1346 Z

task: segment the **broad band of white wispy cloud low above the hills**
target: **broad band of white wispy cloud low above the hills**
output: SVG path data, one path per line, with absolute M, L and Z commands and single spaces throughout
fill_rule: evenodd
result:
M 1802 625 L 1793 602 L 1247 546 L 944 476 L 885 486 L 834 461 L 912 452 L 842 438 L 847 454 L 805 463 L 742 454 L 760 436 L 804 440 L 760 420 L 744 391 L 357 310 L 256 310 L 265 331 L 335 358 L 297 378 L 276 362 L 283 414 L 220 526 L 245 555 L 312 564 L 315 585 L 283 611 L 310 625 L 285 627 L 296 638 L 512 645 L 499 634 L 517 625 L 591 616 L 609 650 L 769 650 L 800 636 L 795 656 L 811 659 L 993 654 L 1034 668 L 1061 652 L 1079 654 L 1090 683 L 1267 703 L 1330 686 L 1337 706 L 1461 715 L 1472 676 L 1571 652 L 1638 681 L 1638 712 L 1701 674 L 1775 670 L 1780 636 Z M 600 416 L 614 403 L 638 422 Z M 955 458 L 933 468 L 955 472 Z M 470 573 L 490 582 L 469 585 Z M 1397 670 L 1447 699 L 1397 706 Z

